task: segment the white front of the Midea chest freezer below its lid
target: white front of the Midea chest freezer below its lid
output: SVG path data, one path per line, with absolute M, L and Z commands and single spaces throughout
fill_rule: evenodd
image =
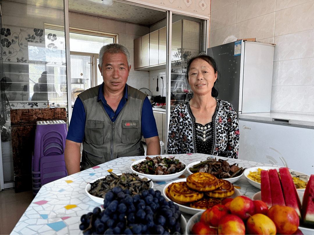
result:
M 239 116 L 239 159 L 314 174 L 314 126 L 310 122 L 307 126 L 291 124 L 289 119 L 260 121 Z

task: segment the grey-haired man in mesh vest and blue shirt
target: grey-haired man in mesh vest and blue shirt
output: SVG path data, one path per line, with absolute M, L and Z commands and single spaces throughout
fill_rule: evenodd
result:
M 146 95 L 126 84 L 130 53 L 120 44 L 100 49 L 103 83 L 78 95 L 66 139 L 64 158 L 68 175 L 126 156 L 160 154 L 153 110 Z M 80 166 L 80 146 L 83 142 Z

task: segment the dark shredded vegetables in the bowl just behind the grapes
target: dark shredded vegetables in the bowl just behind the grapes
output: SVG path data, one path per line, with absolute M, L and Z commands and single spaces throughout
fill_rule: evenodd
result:
M 141 179 L 135 173 L 122 173 L 122 175 L 109 173 L 110 175 L 106 175 L 106 177 L 90 184 L 89 193 L 91 195 L 105 198 L 106 193 L 116 186 L 120 186 L 123 190 L 129 190 L 131 195 L 140 194 L 143 190 L 149 189 L 151 180 L 145 177 Z

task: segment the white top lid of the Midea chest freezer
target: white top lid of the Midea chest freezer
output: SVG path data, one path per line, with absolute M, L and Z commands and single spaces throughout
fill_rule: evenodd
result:
M 274 124 L 284 123 L 284 124 L 291 124 L 291 125 L 314 127 L 314 116 L 306 116 L 306 115 L 260 112 L 260 113 L 239 114 L 239 118 L 271 122 Z

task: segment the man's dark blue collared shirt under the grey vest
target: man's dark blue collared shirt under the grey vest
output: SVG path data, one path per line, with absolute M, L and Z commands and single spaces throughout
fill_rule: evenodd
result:
M 127 103 L 127 84 L 125 84 L 124 95 L 120 100 L 120 103 L 116 109 L 116 112 L 107 104 L 107 101 L 102 94 L 104 83 L 101 84 L 98 90 L 98 101 L 101 100 L 108 116 L 111 121 L 114 122 L 121 112 L 123 106 Z M 80 98 L 77 98 L 72 111 L 71 122 L 68 128 L 67 139 L 72 140 L 77 143 L 82 143 L 85 136 L 85 122 L 86 113 L 84 109 L 83 102 Z M 158 136 L 158 130 L 156 126 L 156 121 L 153 114 L 152 105 L 149 102 L 148 97 L 145 98 L 142 107 L 142 117 L 141 117 L 141 128 L 144 138 L 150 138 Z

